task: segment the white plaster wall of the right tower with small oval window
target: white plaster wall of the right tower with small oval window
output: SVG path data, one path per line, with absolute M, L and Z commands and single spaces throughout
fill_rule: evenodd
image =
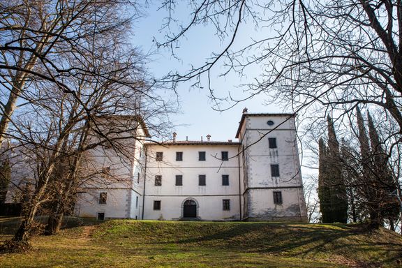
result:
M 251 220 L 306 219 L 295 123 L 293 119 L 286 119 L 288 115 L 267 114 L 246 116 L 244 120 L 242 143 L 248 147 L 244 163 L 244 200 L 245 214 Z M 267 124 L 269 120 L 274 121 L 273 126 Z M 278 126 L 281 122 L 284 123 Z M 276 149 L 269 149 L 269 137 L 276 138 Z M 271 175 L 271 164 L 279 165 L 279 177 Z M 281 191 L 283 204 L 274 204 L 273 191 Z

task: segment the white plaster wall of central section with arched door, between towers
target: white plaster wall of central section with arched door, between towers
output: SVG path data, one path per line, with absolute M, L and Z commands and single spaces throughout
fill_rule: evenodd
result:
M 239 144 L 148 145 L 144 218 L 179 219 L 181 204 L 192 197 L 200 205 L 202 220 L 239 218 Z M 163 161 L 155 161 L 156 152 L 163 152 Z M 176 161 L 176 152 L 183 152 L 183 161 Z M 198 151 L 206 152 L 206 161 L 198 160 Z M 221 151 L 228 151 L 229 161 L 221 161 Z M 183 186 L 176 186 L 176 175 L 183 176 Z M 206 175 L 206 186 L 199 186 L 198 175 Z M 229 186 L 222 185 L 222 175 L 229 175 Z M 162 186 L 155 186 L 155 175 L 162 176 Z M 222 200 L 231 200 L 230 211 L 223 211 Z M 161 211 L 154 211 L 154 200 L 161 200 Z

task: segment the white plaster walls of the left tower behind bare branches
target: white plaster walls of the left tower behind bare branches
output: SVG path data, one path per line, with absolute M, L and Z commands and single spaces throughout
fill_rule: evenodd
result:
M 123 128 L 124 124 L 118 127 Z M 98 212 L 105 212 L 106 218 L 140 218 L 142 216 L 143 180 L 137 182 L 137 177 L 140 173 L 141 178 L 144 170 L 144 161 L 141 161 L 144 158 L 143 141 L 140 139 L 143 139 L 145 134 L 142 128 L 136 128 L 133 122 L 130 127 L 132 128 L 130 133 L 122 132 L 118 135 L 118 137 L 128 137 L 117 142 L 117 145 L 124 150 L 124 154 L 105 147 L 96 147 L 87 152 L 89 161 L 84 163 L 83 170 L 87 168 L 87 172 L 91 172 L 109 167 L 110 171 L 108 174 L 96 175 L 82 186 L 87 193 L 78 196 L 75 205 L 76 214 L 96 217 Z M 96 138 L 96 136 L 91 137 L 91 139 Z M 107 204 L 98 204 L 101 192 L 107 192 Z M 137 197 L 138 202 L 136 202 Z

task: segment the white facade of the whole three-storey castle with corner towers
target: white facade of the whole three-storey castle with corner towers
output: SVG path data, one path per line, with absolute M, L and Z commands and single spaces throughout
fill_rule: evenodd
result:
M 133 159 L 119 162 L 121 170 L 131 170 L 125 184 L 87 188 L 76 204 L 77 215 L 306 221 L 292 114 L 244 113 L 239 142 L 144 144 L 138 141 L 144 133 L 131 145 Z

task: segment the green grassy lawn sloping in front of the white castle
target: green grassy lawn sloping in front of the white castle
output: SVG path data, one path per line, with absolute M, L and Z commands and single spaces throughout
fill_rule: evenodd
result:
M 31 242 L 28 253 L 0 255 L 0 267 L 399 267 L 402 261 L 400 235 L 361 225 L 121 220 Z

